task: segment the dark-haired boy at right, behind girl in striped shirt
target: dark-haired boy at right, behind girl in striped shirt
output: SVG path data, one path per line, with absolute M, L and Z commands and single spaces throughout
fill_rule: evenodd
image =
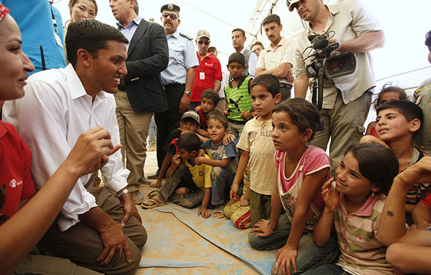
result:
M 377 138 L 366 135 L 361 138 L 360 143 L 373 142 L 389 147 L 398 159 L 400 172 L 414 165 L 423 156 L 428 156 L 425 151 L 414 147 L 412 143 L 415 133 L 421 128 L 423 122 L 421 108 L 409 101 L 395 100 L 383 103 L 376 112 L 374 127 Z M 428 183 L 415 183 L 410 188 L 405 201 L 407 217 L 412 214 L 414 206 L 421 199 L 421 193 L 427 186 Z

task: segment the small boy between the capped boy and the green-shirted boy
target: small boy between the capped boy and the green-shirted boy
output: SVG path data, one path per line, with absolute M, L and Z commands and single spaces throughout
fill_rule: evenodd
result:
M 197 130 L 197 133 L 208 138 L 209 135 L 206 133 L 206 128 L 208 128 L 208 114 L 212 110 L 215 110 L 217 107 L 218 101 L 220 101 L 220 97 L 218 97 L 218 92 L 213 89 L 206 89 L 202 92 L 200 96 L 201 105 L 195 108 L 195 112 L 199 115 L 200 118 L 200 128 Z

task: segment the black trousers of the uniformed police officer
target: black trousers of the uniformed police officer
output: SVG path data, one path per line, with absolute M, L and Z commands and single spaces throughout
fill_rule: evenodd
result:
M 157 125 L 157 165 L 160 169 L 166 152 L 163 151 L 168 142 L 169 133 L 179 127 L 182 114 L 179 113 L 179 101 L 183 97 L 184 84 L 170 84 L 163 86 L 166 99 L 168 99 L 169 110 L 161 113 L 154 113 L 154 122 Z

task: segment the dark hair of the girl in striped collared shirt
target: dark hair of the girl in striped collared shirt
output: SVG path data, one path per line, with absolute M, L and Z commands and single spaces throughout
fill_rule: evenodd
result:
M 398 159 L 391 149 L 379 144 L 352 144 L 345 151 L 352 153 L 359 163 L 359 172 L 371 183 L 380 187 L 380 193 L 387 195 L 393 178 L 398 174 Z

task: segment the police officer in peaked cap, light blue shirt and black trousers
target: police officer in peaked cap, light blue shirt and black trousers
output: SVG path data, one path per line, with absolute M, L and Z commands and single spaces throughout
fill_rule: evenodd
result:
M 197 61 L 193 38 L 178 31 L 181 22 L 179 6 L 172 3 L 161 7 L 161 22 L 165 28 L 169 46 L 169 65 L 161 72 L 161 83 L 168 99 L 169 110 L 156 113 L 157 125 L 157 163 L 163 163 L 166 152 L 163 151 L 168 134 L 179 127 L 181 114 L 188 110 L 190 95 L 195 79 Z M 156 178 L 155 175 L 149 178 Z

